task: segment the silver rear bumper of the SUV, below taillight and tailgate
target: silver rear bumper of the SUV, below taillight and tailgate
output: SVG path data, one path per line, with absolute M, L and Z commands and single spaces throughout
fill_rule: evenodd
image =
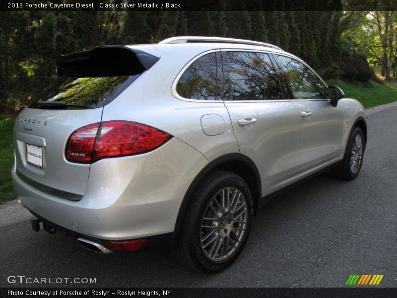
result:
M 39 219 L 69 234 L 130 240 L 174 231 L 182 199 L 207 160 L 173 138 L 154 151 L 91 165 L 85 194 L 66 200 L 11 176 L 18 199 Z

